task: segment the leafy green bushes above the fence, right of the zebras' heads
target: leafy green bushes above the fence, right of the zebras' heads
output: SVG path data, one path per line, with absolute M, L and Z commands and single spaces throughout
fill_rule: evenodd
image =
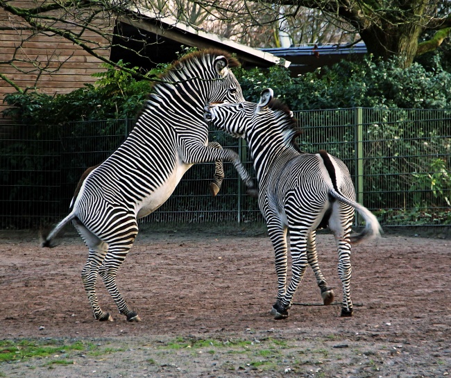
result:
M 265 87 L 286 102 L 291 110 L 335 108 L 451 108 L 451 73 L 441 67 L 414 63 L 400 69 L 394 61 L 343 60 L 333 67 L 291 78 L 288 69 L 237 70 L 237 78 L 249 101 L 258 101 Z

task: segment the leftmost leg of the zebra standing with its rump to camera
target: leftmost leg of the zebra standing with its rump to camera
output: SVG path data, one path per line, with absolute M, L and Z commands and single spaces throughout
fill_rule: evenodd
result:
M 287 227 L 283 227 L 280 224 L 279 219 L 275 221 L 267 221 L 269 238 L 273 243 L 274 255 L 275 255 L 275 273 L 278 277 L 278 295 L 273 308 L 271 309 L 271 315 L 275 319 L 284 319 L 288 317 L 289 307 L 282 306 L 282 300 L 287 291 L 287 271 L 288 271 L 288 258 L 287 258 Z

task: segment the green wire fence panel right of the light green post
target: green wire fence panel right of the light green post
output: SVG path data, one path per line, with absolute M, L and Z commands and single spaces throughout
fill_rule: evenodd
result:
M 450 110 L 363 112 L 364 205 L 382 224 L 450 225 Z

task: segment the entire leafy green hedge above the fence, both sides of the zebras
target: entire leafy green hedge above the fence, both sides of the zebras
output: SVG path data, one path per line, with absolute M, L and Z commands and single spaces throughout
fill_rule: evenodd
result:
M 122 63 L 119 62 L 119 65 Z M 138 67 L 133 67 L 137 71 Z M 149 72 L 160 73 L 164 66 Z M 451 108 L 451 73 L 441 67 L 439 56 L 426 70 L 415 63 L 409 69 L 395 62 L 343 60 L 333 67 L 291 78 L 284 67 L 235 69 L 244 97 L 258 102 L 262 89 L 271 87 L 291 110 L 353 108 Z M 95 85 L 69 94 L 49 96 L 37 92 L 9 94 L 11 105 L 3 113 L 26 124 L 61 124 L 67 121 L 134 118 L 142 107 L 151 81 L 109 67 L 94 74 Z

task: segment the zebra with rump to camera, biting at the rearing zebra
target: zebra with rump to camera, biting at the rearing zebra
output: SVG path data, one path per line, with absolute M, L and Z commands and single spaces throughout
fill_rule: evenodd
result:
M 350 297 L 351 243 L 380 234 L 377 219 L 355 202 L 355 189 L 346 165 L 325 151 L 302 153 L 294 138 L 299 129 L 288 108 L 273 101 L 265 89 L 258 104 L 211 104 L 204 117 L 233 137 L 244 137 L 250 148 L 257 182 L 258 203 L 275 251 L 278 298 L 271 313 L 287 318 L 293 295 L 307 264 L 314 268 L 325 304 L 333 294 L 318 266 L 316 229 L 330 227 L 337 242 L 339 276 L 343 284 L 341 316 L 352 316 Z M 350 237 L 354 209 L 366 227 Z M 290 235 L 292 276 L 287 289 L 287 230 Z M 324 295 L 325 294 L 325 295 Z

